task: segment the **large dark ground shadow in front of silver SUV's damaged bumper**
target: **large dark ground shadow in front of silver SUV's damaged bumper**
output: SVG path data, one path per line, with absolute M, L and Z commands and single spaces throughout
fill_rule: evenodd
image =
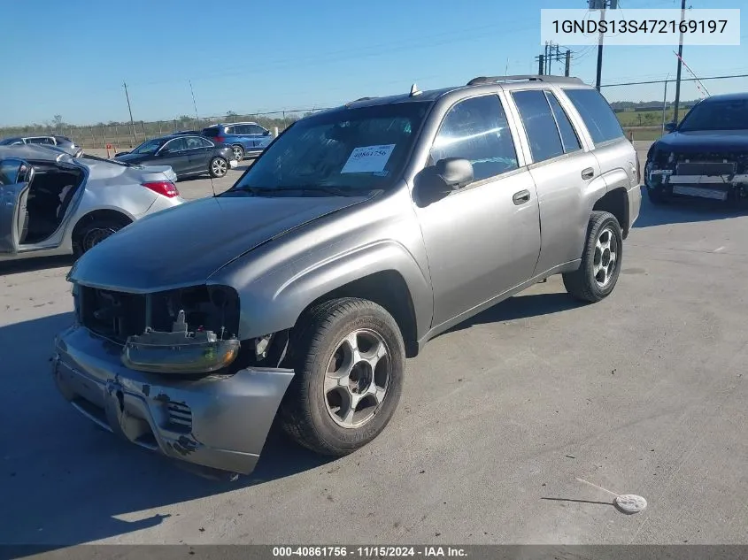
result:
M 81 417 L 54 387 L 51 341 L 71 321 L 72 313 L 61 313 L 0 326 L 6 387 L 0 410 L 12 418 L 4 422 L 0 456 L 0 545 L 63 548 L 132 533 L 172 517 L 174 504 L 241 492 L 329 462 L 274 426 L 255 472 L 216 481 L 118 440 Z

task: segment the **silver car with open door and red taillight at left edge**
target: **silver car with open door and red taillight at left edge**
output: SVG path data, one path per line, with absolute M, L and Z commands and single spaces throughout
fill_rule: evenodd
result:
M 184 202 L 168 166 L 47 146 L 0 146 L 0 262 L 76 257 L 122 227 Z

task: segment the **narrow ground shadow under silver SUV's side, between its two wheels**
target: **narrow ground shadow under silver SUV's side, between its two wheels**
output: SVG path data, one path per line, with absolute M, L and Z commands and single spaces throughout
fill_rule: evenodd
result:
M 500 323 L 518 318 L 529 318 L 569 311 L 586 304 L 575 300 L 566 292 L 513 295 L 509 299 L 497 303 L 485 311 L 481 311 L 474 317 L 466 319 L 462 323 L 459 323 L 459 325 L 452 326 L 444 334 L 455 333 L 475 325 Z

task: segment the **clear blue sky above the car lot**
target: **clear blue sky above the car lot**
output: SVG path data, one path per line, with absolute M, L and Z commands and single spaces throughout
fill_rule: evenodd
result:
M 748 73 L 748 6 L 739 47 L 688 47 L 699 77 Z M 541 8 L 586 0 L 0 0 L 0 125 L 136 120 L 309 109 L 360 96 L 464 83 L 486 74 L 536 73 Z M 679 8 L 675 0 L 620 0 L 621 9 Z M 12 23 L 11 23 L 12 22 Z M 597 48 L 574 50 L 572 74 L 594 83 Z M 672 47 L 609 47 L 603 83 L 675 76 Z M 556 63 L 554 73 L 563 73 Z M 707 81 L 710 93 L 746 80 Z M 673 91 L 671 84 L 670 91 Z M 661 99 L 661 84 L 605 88 L 615 100 Z M 668 95 L 672 99 L 672 94 Z M 684 85 L 682 98 L 698 96 Z

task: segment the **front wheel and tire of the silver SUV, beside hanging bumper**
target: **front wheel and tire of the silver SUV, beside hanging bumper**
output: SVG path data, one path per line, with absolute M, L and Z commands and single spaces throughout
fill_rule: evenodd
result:
M 366 445 L 392 418 L 405 375 L 405 344 L 382 306 L 345 297 L 320 303 L 291 338 L 295 374 L 281 426 L 301 445 L 343 456 Z

